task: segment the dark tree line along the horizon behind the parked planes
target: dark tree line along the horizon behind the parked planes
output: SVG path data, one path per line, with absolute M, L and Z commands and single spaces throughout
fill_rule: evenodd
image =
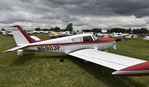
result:
M 1 30 L 5 30 L 4 28 Z M 60 32 L 60 31 L 73 31 L 73 24 L 69 23 L 67 24 L 65 29 L 61 29 L 60 27 L 52 27 L 52 28 L 35 28 L 36 31 L 56 31 L 56 32 Z M 102 32 L 102 29 L 100 28 L 93 28 L 93 29 L 83 29 L 81 30 L 83 32 L 96 32 L 96 33 L 100 33 Z M 79 32 L 79 30 L 77 31 Z M 111 29 L 107 29 L 107 33 L 133 33 L 133 34 L 149 34 L 149 30 L 147 28 L 140 28 L 140 29 L 125 29 L 125 28 L 111 28 Z

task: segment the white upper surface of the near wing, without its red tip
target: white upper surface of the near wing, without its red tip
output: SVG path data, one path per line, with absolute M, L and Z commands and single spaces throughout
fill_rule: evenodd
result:
M 78 57 L 114 70 L 121 70 L 123 68 L 144 63 L 146 61 L 134 59 L 131 57 L 121 56 L 113 53 L 107 53 L 96 49 L 83 49 L 69 53 L 71 56 Z

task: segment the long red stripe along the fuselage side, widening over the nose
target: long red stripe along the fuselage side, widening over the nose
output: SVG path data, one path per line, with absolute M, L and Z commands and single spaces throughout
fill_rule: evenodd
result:
M 113 38 L 100 38 L 96 41 L 86 41 L 86 42 L 72 42 L 72 43 L 55 43 L 55 44 L 39 44 L 39 45 L 29 45 L 29 47 L 33 46 L 47 46 L 47 45 L 72 45 L 72 44 L 92 44 L 92 43 L 101 43 L 101 42 L 114 42 Z

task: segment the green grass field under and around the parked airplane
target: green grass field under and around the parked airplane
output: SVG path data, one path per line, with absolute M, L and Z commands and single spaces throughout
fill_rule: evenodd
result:
M 48 39 L 46 34 L 37 36 Z M 26 52 L 18 58 L 16 52 L 2 52 L 15 46 L 12 36 L 0 35 L 0 87 L 149 87 L 149 76 L 112 76 L 114 70 L 63 53 Z M 109 51 L 149 60 L 149 41 L 121 41 L 116 51 Z

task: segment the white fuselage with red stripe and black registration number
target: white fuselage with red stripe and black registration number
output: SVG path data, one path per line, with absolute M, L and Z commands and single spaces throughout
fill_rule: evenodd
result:
M 83 36 L 92 37 L 91 34 L 82 34 L 39 41 L 31 43 L 26 50 L 70 53 L 80 49 L 107 50 L 115 44 L 115 40 L 112 38 L 99 38 L 97 40 L 93 39 L 93 41 L 83 41 Z M 77 37 L 81 38 L 80 41 L 73 41 L 73 38 Z

